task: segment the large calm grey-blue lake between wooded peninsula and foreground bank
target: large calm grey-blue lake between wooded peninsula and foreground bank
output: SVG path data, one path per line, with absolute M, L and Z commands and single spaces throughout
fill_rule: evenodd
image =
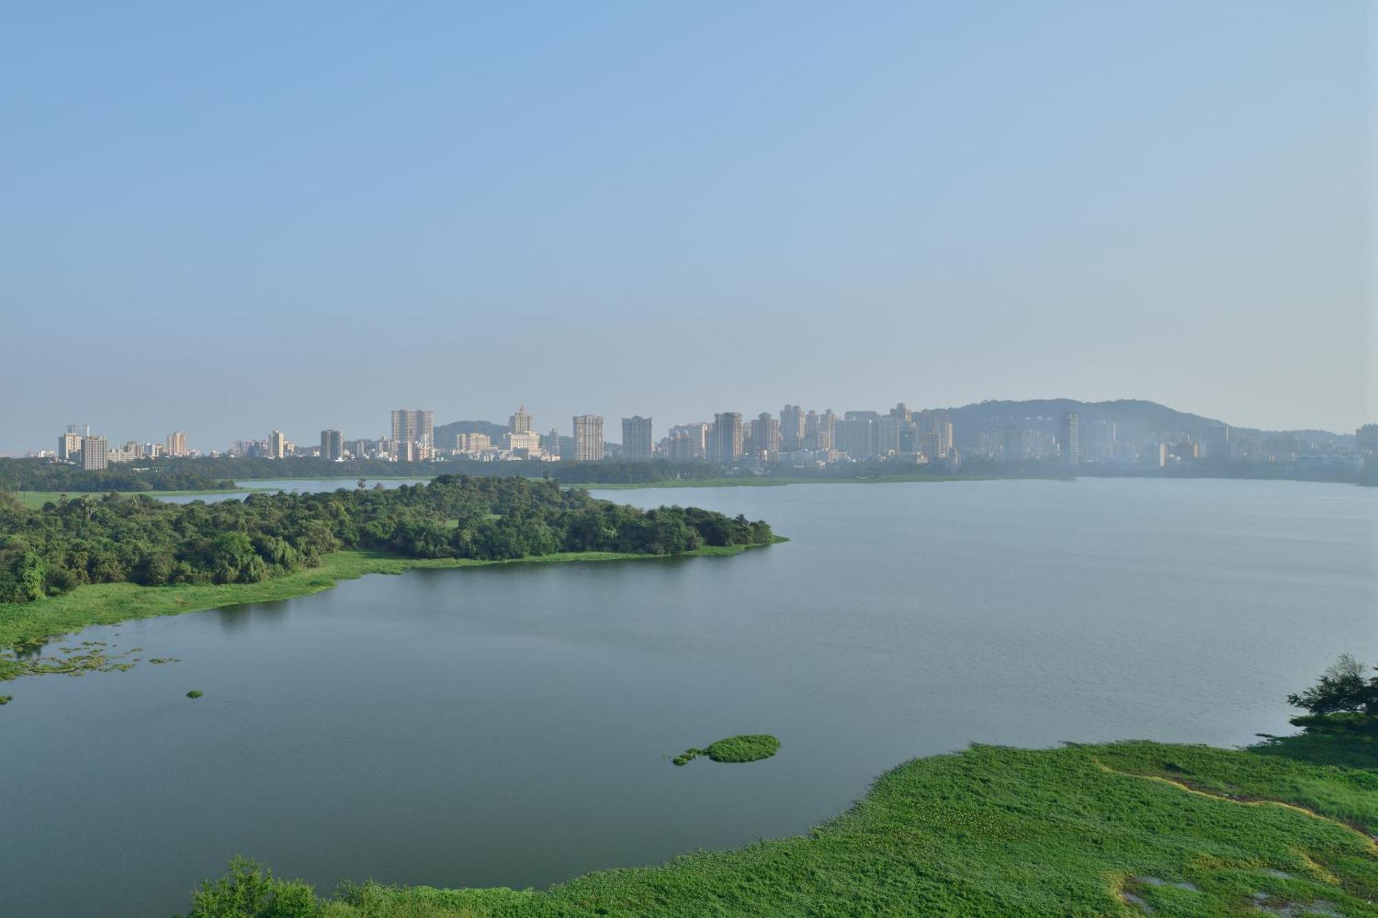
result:
M 543 886 L 802 833 L 885 769 L 971 742 L 1248 743 L 1287 732 L 1284 695 L 1337 655 L 1378 656 L 1378 489 L 601 496 L 792 540 L 369 576 L 59 641 L 181 662 L 4 686 L 6 910 L 167 915 L 236 853 L 321 890 Z M 745 732 L 779 755 L 667 758 Z

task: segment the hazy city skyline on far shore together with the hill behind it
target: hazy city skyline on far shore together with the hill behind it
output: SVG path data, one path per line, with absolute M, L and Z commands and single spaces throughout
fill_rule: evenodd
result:
M 1022 408 L 1021 408 L 1022 407 Z M 714 412 L 712 420 L 671 420 L 663 422 L 657 436 L 653 416 L 633 415 L 621 418 L 621 440 L 613 441 L 606 436 L 605 425 L 608 418 L 598 414 L 584 412 L 570 419 L 570 436 L 559 433 L 558 426 L 548 434 L 535 430 L 535 415 L 522 402 L 513 412 L 507 423 L 484 418 L 460 418 L 442 422 L 452 425 L 488 425 L 489 433 L 445 433 L 438 438 L 434 433 L 434 411 L 394 408 L 389 412 L 389 433 L 382 437 L 346 437 L 338 429 L 320 429 L 320 447 L 306 445 L 314 438 L 294 441 L 288 434 L 273 429 L 267 438 L 249 437 L 230 441 L 227 448 L 219 445 L 198 448 L 189 445 L 187 434 L 182 430 L 167 434 L 165 444 L 156 440 L 139 441 L 128 440 L 120 448 L 109 447 L 109 462 L 123 463 L 135 459 L 149 459 L 158 456 L 186 456 L 186 455 L 265 455 L 274 459 L 305 455 L 305 452 L 325 456 L 328 459 L 361 458 L 382 455 L 390 459 L 407 462 L 429 460 L 444 458 L 451 453 L 484 453 L 486 458 L 503 459 L 544 459 L 558 460 L 561 458 L 576 462 L 597 462 L 604 459 L 608 448 L 620 459 L 650 459 L 668 458 L 674 460 L 707 459 L 723 466 L 730 466 L 737 460 L 759 453 L 791 453 L 791 452 L 821 452 L 824 455 L 836 452 L 849 460 L 867 460 L 872 456 L 887 456 L 901 453 L 922 453 L 933 460 L 947 460 L 949 451 L 959 444 L 954 434 L 951 416 L 970 409 L 1010 411 L 1021 409 L 1027 414 L 1010 414 L 999 425 L 978 423 L 974 430 L 963 430 L 966 445 L 977 442 L 985 455 L 1021 456 L 1038 436 L 1035 429 L 1054 425 L 1056 437 L 1053 442 L 1061 444 L 1060 451 L 1071 465 L 1082 462 L 1087 453 L 1087 444 L 1094 445 L 1096 455 L 1111 458 L 1115 451 L 1111 444 L 1130 444 L 1135 437 L 1142 438 L 1144 430 L 1129 440 L 1116 441 L 1116 423 L 1105 418 L 1093 420 L 1083 431 L 1079 422 L 1080 411 L 1094 414 L 1116 412 L 1130 409 L 1130 407 L 1146 407 L 1162 409 L 1177 419 L 1175 425 L 1153 430 L 1155 444 L 1167 441 L 1181 441 L 1188 444 L 1192 436 L 1186 431 L 1186 422 L 1202 430 L 1200 425 L 1209 427 L 1209 438 L 1229 440 L 1229 433 L 1262 434 L 1265 437 L 1277 434 L 1275 442 L 1284 442 L 1288 437 L 1301 436 L 1301 442 L 1316 445 L 1338 445 L 1341 440 L 1352 437 L 1370 437 L 1378 425 L 1370 422 L 1363 425 L 1363 430 L 1356 429 L 1353 434 L 1348 431 L 1324 431 L 1319 429 L 1297 430 L 1259 430 L 1239 427 L 1226 420 L 1204 418 L 1191 412 L 1181 412 L 1167 405 L 1159 405 L 1144 400 L 1127 402 L 1080 402 L 1069 400 L 1034 400 L 1013 401 L 998 400 L 974 405 L 954 408 L 914 408 L 904 401 L 896 402 L 892 408 L 881 412 L 874 409 L 850 409 L 838 415 L 832 408 L 821 412 L 814 408 L 805 409 L 798 404 L 784 404 L 779 412 L 763 411 L 755 416 L 744 416 L 741 412 Z M 1032 412 L 1032 414 L 1029 414 Z M 616 420 L 616 419 L 613 419 Z M 1056 422 L 1056 423 L 1054 423 Z M 1108 427 L 1107 427 L 1108 425 Z M 1135 423 L 1142 427 L 1142 423 Z M 81 448 L 88 438 L 101 442 L 114 442 L 99 430 L 85 426 L 84 433 L 79 433 L 79 425 L 66 425 L 65 433 L 58 434 L 56 449 L 26 451 L 12 455 L 47 455 L 56 459 L 74 459 L 87 465 L 87 458 Z M 1022 430 L 1020 427 L 1024 427 Z M 502 430 L 502 434 L 497 434 Z M 616 430 L 616 423 L 613 426 Z M 1367 431 L 1367 433 L 1366 433 Z M 1014 437 L 1011 440 L 1011 436 Z M 1051 436 L 1051 434 L 1050 434 Z M 453 440 L 455 442 L 451 442 Z M 561 441 L 568 441 L 568 449 Z M 1140 444 L 1142 445 L 1142 444 Z M 1257 444 L 1255 444 L 1257 447 Z M 1071 453 L 1067 449 L 1071 449 Z M 1222 449 L 1221 442 L 1214 445 L 1215 458 Z M 1036 449 L 1038 451 L 1038 449 Z M 101 465 L 105 467 L 106 448 L 101 449 Z M 0 453 L 4 455 L 4 453 Z M 1200 458 L 1193 455 L 1192 458 Z M 956 452 L 954 451 L 954 459 Z M 827 462 L 827 460 L 825 460 Z

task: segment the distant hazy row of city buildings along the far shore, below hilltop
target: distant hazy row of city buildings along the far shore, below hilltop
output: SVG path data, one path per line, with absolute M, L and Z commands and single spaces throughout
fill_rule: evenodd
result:
M 570 419 L 573 436 L 565 437 L 558 429 L 537 433 L 525 405 L 511 414 L 506 426 L 478 420 L 456 422 L 440 429 L 430 409 L 397 408 L 390 412 L 387 436 L 379 438 L 346 438 L 339 430 L 325 429 L 320 431 L 318 442 L 296 444 L 281 430 L 273 430 L 263 440 L 236 440 L 225 451 L 201 451 L 189 447 L 187 436 L 181 430 L 167 434 L 163 442 L 130 440 L 113 447 L 107 437 L 92 434 L 90 427 L 79 430 L 76 425 L 68 425 L 58 436 L 55 451 L 40 449 L 29 455 L 77 465 L 90 471 L 164 456 L 281 460 L 317 458 L 331 462 L 664 459 L 763 471 L 820 469 L 838 463 L 893 463 L 897 469 L 927 466 L 956 470 L 970 458 L 1003 463 L 1057 460 L 1069 467 L 1100 465 L 1163 469 L 1203 460 L 1313 460 L 1357 466 L 1367 456 L 1378 453 L 1378 425 L 1364 425 L 1355 431 L 1353 438 L 1345 438 L 1304 437 L 1295 433 L 1258 436 L 1257 431 L 1239 431 L 1225 423 L 1197 419 L 1204 423 L 1196 425 L 1195 431 L 1153 431 L 1156 436 L 1145 437 L 1142 431 L 1124 436 L 1115 420 L 1083 416 L 1079 411 L 1027 418 L 983 416 L 970 430 L 954 427 L 952 415 L 965 411 L 967 409 L 912 411 L 898 402 L 885 414 L 847 411 L 838 416 L 831 408 L 819 412 L 784 405 L 779 415 L 761 412 L 744 419 L 741 412 L 726 411 L 715 414 L 712 420 L 672 425 L 659 440 L 652 418 L 634 415 L 621 419 L 621 441 L 609 442 L 604 418 L 593 414 L 575 415 Z

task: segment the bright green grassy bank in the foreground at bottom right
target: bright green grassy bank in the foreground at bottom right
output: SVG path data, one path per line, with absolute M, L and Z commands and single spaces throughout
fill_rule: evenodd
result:
M 322 918 L 1375 915 L 1374 827 L 1371 771 L 1142 742 L 977 746 L 896 768 L 808 837 L 544 892 L 364 884 L 322 900 L 303 885 L 277 889 L 298 907 L 281 914 Z

